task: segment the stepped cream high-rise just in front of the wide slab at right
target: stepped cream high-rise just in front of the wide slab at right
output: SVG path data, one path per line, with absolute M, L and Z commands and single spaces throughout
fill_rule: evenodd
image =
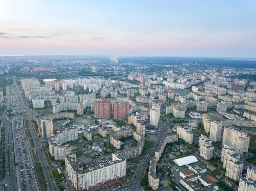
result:
M 228 145 L 223 145 L 221 152 L 221 162 L 226 169 L 225 176 L 238 181 L 242 176 L 243 162 L 240 162 L 240 155 Z

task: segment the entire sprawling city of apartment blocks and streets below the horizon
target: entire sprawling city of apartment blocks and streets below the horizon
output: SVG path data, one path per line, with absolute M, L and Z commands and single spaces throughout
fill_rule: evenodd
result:
M 1 58 L 2 187 L 254 190 L 256 68 L 128 59 Z

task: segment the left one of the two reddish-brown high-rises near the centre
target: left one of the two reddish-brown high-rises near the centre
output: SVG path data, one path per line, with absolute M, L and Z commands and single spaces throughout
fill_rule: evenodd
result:
M 94 102 L 94 117 L 110 119 L 112 114 L 112 103 L 108 99 L 101 98 Z

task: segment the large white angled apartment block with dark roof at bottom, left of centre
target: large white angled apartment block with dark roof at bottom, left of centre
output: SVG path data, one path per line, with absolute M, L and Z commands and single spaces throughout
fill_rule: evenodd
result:
M 88 190 L 126 176 L 126 158 L 113 153 L 109 162 L 84 169 L 77 163 L 76 154 L 70 154 L 65 158 L 65 171 L 77 191 Z

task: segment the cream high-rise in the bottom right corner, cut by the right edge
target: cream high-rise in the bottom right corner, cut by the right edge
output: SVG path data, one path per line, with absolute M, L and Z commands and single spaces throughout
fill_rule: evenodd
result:
M 255 168 L 248 168 L 246 178 L 240 178 L 238 191 L 256 191 Z

